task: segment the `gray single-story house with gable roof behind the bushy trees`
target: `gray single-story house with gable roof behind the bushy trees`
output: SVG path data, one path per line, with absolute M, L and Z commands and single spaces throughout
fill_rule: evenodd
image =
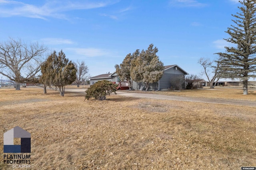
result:
M 187 74 L 188 73 L 186 71 L 184 71 L 182 68 L 180 68 L 180 66 L 178 66 L 178 65 L 164 66 L 164 75 L 162 76 L 162 78 L 160 78 L 160 80 L 158 80 L 158 82 L 151 83 L 149 90 L 170 89 L 174 86 L 174 80 L 177 77 L 179 77 L 179 76 L 184 77 Z M 116 83 L 121 82 L 120 77 L 116 74 L 116 71 L 115 71 L 113 73 L 100 74 L 98 76 L 91 77 L 90 85 L 92 85 L 95 82 L 100 81 L 100 80 L 108 80 L 110 82 L 116 82 Z M 144 84 L 142 82 L 132 81 L 132 87 L 134 88 L 134 90 L 139 90 L 141 88 L 141 86 L 143 86 L 143 85 Z M 128 84 L 124 82 L 124 84 L 122 84 L 122 86 L 128 86 Z

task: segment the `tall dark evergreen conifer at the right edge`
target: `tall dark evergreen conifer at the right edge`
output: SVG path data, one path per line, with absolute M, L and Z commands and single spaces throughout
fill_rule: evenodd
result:
M 243 0 L 234 25 L 228 28 L 230 37 L 226 41 L 235 45 L 225 47 L 226 53 L 217 53 L 223 57 L 223 78 L 239 78 L 243 82 L 243 94 L 248 94 L 248 79 L 255 78 L 256 72 L 256 0 Z

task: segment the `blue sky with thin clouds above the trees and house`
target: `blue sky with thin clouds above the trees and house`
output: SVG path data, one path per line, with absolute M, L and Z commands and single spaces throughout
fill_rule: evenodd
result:
M 200 75 L 200 57 L 214 59 L 239 12 L 238 0 L 0 0 L 0 41 L 44 44 L 91 76 L 114 72 L 128 53 L 158 48 L 164 65 Z

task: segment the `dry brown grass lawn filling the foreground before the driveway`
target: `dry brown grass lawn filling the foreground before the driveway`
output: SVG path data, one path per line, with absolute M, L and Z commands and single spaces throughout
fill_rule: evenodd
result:
M 256 107 L 0 91 L 1 134 L 31 133 L 34 170 L 240 169 L 256 166 Z M 3 146 L 3 135 L 0 135 Z M 0 153 L 3 153 L 0 147 Z M 11 169 L 3 164 L 0 169 Z

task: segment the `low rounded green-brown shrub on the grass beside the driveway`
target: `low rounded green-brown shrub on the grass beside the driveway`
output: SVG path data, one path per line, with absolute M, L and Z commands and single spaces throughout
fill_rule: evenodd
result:
M 98 81 L 86 90 L 85 98 L 87 100 L 89 100 L 90 98 L 106 100 L 107 95 L 110 95 L 112 92 L 116 94 L 116 87 L 116 84 L 113 84 L 112 82 L 109 82 L 107 80 Z

